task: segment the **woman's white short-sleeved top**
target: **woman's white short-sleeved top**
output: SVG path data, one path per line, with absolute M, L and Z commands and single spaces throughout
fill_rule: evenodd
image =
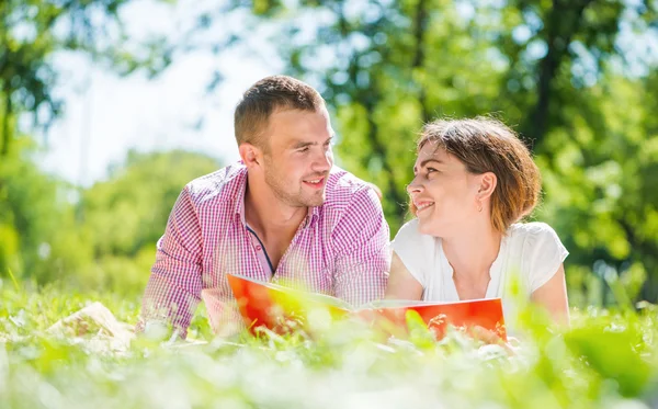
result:
M 457 302 L 453 269 L 443 253 L 440 238 L 418 231 L 418 219 L 405 224 L 392 243 L 409 273 L 422 285 L 422 299 Z M 506 320 L 514 320 L 511 285 L 518 279 L 524 296 L 546 284 L 569 252 L 557 234 L 545 223 L 514 224 L 500 242 L 489 274 L 485 298 L 502 298 Z M 508 321 L 509 321 L 508 320 Z M 509 325 L 508 325 L 509 327 Z

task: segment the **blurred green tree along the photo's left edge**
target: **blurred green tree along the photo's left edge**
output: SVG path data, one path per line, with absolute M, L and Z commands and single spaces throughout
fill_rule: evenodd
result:
M 33 140 L 16 128 L 21 115 L 47 126 L 63 109 L 52 90 L 52 57 L 80 52 L 121 75 L 159 72 L 170 48 L 154 39 L 127 50 L 120 10 L 128 0 L 0 1 L 0 274 L 13 270 L 39 281 L 91 259 L 79 236 L 70 185 L 32 161 Z

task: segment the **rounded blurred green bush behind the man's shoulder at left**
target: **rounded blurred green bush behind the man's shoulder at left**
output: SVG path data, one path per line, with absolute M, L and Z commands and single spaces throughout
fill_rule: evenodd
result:
M 144 245 L 155 243 L 182 188 L 218 168 L 215 159 L 182 150 L 128 152 L 106 182 L 83 194 L 84 226 L 103 237 L 97 254 L 135 255 Z

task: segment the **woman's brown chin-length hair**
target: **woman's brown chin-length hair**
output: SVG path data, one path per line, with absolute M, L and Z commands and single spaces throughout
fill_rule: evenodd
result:
M 504 234 L 530 215 L 540 200 L 542 178 L 530 150 L 503 123 L 487 118 L 439 120 L 427 124 L 417 144 L 436 145 L 462 161 L 468 172 L 492 172 L 498 179 L 491 195 L 491 223 Z M 413 201 L 409 209 L 416 216 Z

